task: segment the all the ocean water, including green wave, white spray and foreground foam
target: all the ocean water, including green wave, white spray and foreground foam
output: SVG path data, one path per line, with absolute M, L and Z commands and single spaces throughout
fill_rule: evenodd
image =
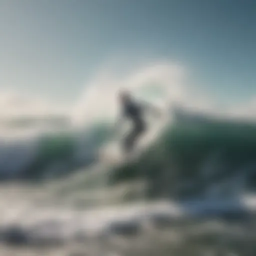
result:
M 1 255 L 254 255 L 256 123 L 188 102 L 179 72 L 99 77 L 61 111 L 15 99 L 0 126 Z M 122 136 L 120 87 L 162 115 L 136 160 L 114 163 L 100 152 Z

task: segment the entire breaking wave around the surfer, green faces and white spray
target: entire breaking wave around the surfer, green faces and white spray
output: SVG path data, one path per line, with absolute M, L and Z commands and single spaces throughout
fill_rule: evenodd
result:
M 54 114 L 47 104 L 36 101 L 33 107 L 33 101 L 15 99 L 11 112 L 22 108 L 21 116 L 10 119 L 5 114 L 1 119 L 5 128 L 1 124 L 0 129 L 5 133 L 0 144 L 0 177 L 49 181 L 80 169 L 89 173 L 91 165 L 97 168 L 98 151 L 114 137 L 118 140 L 112 125 L 118 113 L 116 93 L 125 87 L 135 97 L 160 107 L 167 126 L 152 132 L 159 137 L 138 161 L 110 166 L 106 182 L 144 179 L 149 184 L 148 196 L 223 196 L 253 190 L 256 124 L 234 121 L 228 117 L 230 109 L 221 109 L 221 114 L 215 111 L 207 97 L 198 98 L 183 86 L 182 76 L 182 69 L 169 64 L 143 67 L 123 77 L 110 72 L 86 85 L 72 111 L 57 109 Z M 8 96 L 6 102 L 13 100 Z M 21 136 L 23 130 L 27 132 Z M 15 132 L 18 135 L 11 137 Z M 6 138 L 7 133 L 13 134 Z M 87 173 L 82 175 L 87 177 Z M 96 175 L 101 178 L 100 171 Z M 76 189 L 75 184 L 71 189 Z

